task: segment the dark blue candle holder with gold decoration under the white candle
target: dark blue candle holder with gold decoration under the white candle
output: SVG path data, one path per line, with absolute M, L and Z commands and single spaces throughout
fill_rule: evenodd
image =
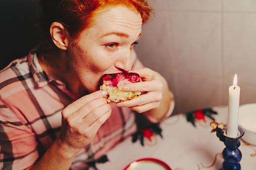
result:
M 240 170 L 241 165 L 239 162 L 242 158 L 242 153 L 238 147 L 240 146 L 239 138 L 243 136 L 244 129 L 242 126 L 238 125 L 238 136 L 235 138 L 228 137 L 226 131 L 227 124 L 225 124 L 223 129 L 220 129 L 219 127 L 216 128 L 217 136 L 226 146 L 222 151 L 224 162 L 222 163 L 222 168 L 220 170 Z

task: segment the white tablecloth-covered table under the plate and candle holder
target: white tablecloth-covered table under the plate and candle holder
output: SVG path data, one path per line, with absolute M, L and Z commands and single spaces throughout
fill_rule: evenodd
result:
M 216 122 L 227 122 L 227 106 L 212 109 L 217 111 L 217 115 L 213 115 Z M 171 116 L 160 124 L 163 138 L 156 135 L 151 142 L 144 141 L 142 146 L 139 141 L 133 143 L 132 137 L 128 137 L 107 153 L 109 161 L 96 166 L 99 170 L 122 170 L 134 160 L 151 157 L 164 161 L 172 170 L 220 169 L 224 160 L 220 155 L 225 145 L 216 132 L 211 133 L 211 121 L 208 117 L 206 122 L 198 120 L 195 127 L 184 114 Z M 241 168 L 255 170 L 256 146 L 240 142 Z

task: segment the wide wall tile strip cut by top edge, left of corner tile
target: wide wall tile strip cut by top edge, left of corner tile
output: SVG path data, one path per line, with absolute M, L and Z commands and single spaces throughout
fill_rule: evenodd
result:
M 172 10 L 220 11 L 221 0 L 167 0 Z

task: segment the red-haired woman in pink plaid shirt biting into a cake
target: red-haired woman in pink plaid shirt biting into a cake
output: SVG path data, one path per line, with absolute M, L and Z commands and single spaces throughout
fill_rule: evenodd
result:
M 151 122 L 172 113 L 165 79 L 143 68 L 133 47 L 151 8 L 144 0 L 42 0 L 38 48 L 0 73 L 3 169 L 86 169 L 136 131 L 134 111 Z M 107 103 L 106 73 L 143 81 L 129 101 Z

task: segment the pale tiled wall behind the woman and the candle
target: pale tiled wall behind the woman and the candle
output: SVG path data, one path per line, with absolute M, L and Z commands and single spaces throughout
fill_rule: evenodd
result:
M 149 0 L 154 20 L 135 50 L 168 81 L 175 113 L 227 105 L 237 74 L 240 105 L 256 103 L 255 0 Z

